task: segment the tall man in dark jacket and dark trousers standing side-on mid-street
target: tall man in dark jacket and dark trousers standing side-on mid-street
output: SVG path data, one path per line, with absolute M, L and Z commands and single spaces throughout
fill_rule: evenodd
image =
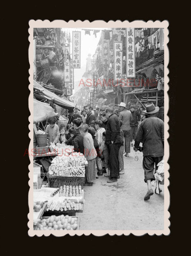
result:
M 119 178 L 119 148 L 121 146 L 120 125 L 118 117 L 113 113 L 112 108 L 105 110 L 108 123 L 106 127 L 105 142 L 109 150 L 110 179 L 107 181 L 115 182 Z

